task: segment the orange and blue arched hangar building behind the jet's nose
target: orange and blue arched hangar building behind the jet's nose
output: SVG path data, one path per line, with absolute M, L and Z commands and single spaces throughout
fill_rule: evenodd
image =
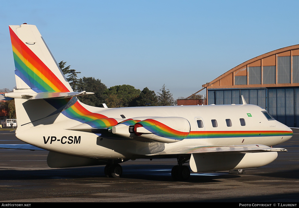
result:
M 241 104 L 243 95 L 279 122 L 299 127 L 299 45 L 250 59 L 202 87 L 208 105 Z

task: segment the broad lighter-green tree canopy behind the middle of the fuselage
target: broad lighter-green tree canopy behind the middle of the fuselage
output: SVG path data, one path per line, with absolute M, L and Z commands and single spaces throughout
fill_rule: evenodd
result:
M 110 87 L 106 91 L 107 96 L 116 95 L 119 100 L 122 100 L 122 105 L 120 107 L 129 107 L 132 100 L 139 96 L 140 90 L 135 89 L 131 85 L 116 85 Z M 108 105 L 107 105 L 108 106 Z

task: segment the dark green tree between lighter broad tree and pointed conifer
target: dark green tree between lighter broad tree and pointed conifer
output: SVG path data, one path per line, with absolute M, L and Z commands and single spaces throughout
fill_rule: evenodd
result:
M 136 97 L 132 104 L 133 106 L 156 106 L 158 104 L 158 97 L 155 91 L 149 90 L 145 87 L 138 97 Z

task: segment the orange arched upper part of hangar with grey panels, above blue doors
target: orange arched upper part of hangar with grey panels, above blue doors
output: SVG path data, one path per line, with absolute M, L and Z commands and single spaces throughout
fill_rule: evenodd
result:
M 299 45 L 257 56 L 202 85 L 203 88 L 290 86 L 299 86 Z

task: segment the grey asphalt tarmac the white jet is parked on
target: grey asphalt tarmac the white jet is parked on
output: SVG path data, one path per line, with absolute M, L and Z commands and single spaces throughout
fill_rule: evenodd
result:
M 192 173 L 173 181 L 176 159 L 129 160 L 122 178 L 106 178 L 104 166 L 49 168 L 47 151 L 0 149 L 1 202 L 299 202 L 299 131 L 276 147 L 274 162 L 245 174 Z M 22 144 L 0 131 L 1 144 Z

